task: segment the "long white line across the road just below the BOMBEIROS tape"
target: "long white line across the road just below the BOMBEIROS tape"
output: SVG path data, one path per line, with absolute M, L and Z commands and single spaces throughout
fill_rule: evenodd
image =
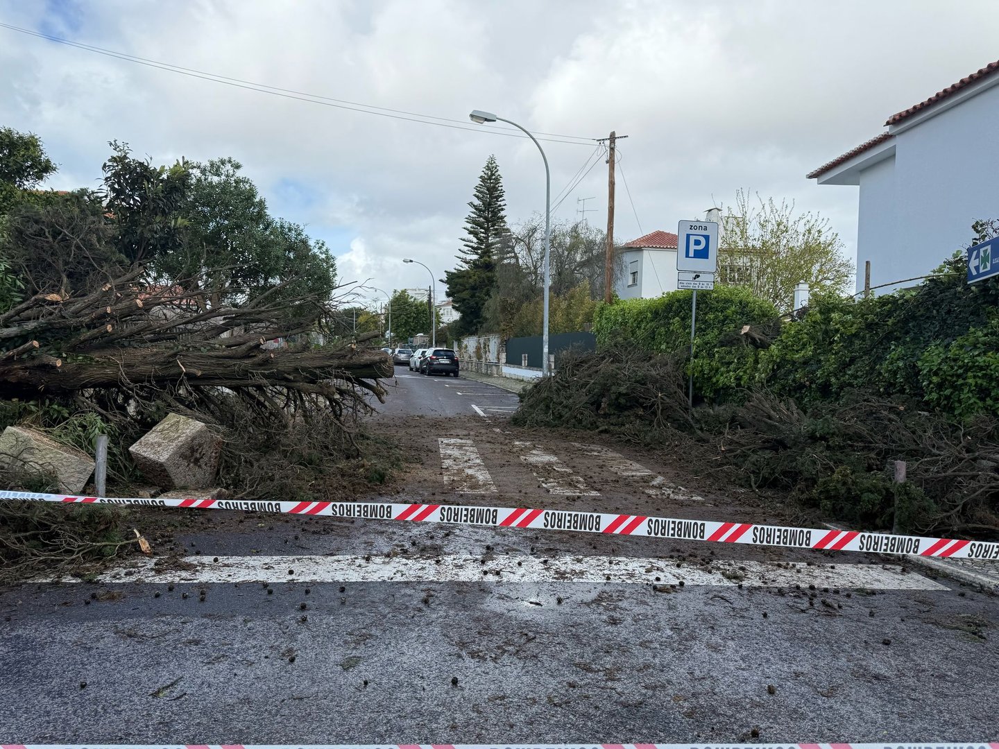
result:
M 616 582 L 633 584 L 785 587 L 820 592 L 828 588 L 868 590 L 946 590 L 947 587 L 896 565 L 714 562 L 682 566 L 662 559 L 620 556 L 503 555 L 482 563 L 482 555 L 405 556 L 207 556 L 182 558 L 181 568 L 156 559 L 140 559 L 101 572 L 95 582 L 223 583 L 223 582 Z M 788 568 L 789 567 L 789 568 Z M 499 574 L 498 574 L 499 572 Z M 78 577 L 47 577 L 33 582 L 82 582 Z M 828 595 L 828 594 L 827 594 Z M 834 595 L 834 594 L 833 594 Z M 824 596 L 823 596 L 824 597 Z

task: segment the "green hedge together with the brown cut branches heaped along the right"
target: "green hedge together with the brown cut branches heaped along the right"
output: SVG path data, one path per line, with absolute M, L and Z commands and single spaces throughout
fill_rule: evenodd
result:
M 958 253 L 912 289 L 820 294 L 793 316 L 749 289 L 701 292 L 692 358 L 689 292 L 601 304 L 597 351 L 562 357 L 513 421 L 696 458 L 857 527 L 996 538 L 999 281 L 965 273 Z

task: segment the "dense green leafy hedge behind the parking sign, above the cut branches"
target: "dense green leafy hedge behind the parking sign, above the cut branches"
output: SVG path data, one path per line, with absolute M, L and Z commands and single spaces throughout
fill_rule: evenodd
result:
M 967 284 L 963 253 L 938 273 L 867 300 L 813 296 L 800 320 L 783 324 L 747 290 L 700 292 L 689 365 L 695 388 L 718 401 L 764 385 L 802 402 L 870 389 L 960 418 L 999 412 L 999 279 Z M 753 336 L 739 335 L 745 325 Z M 594 332 L 601 347 L 628 341 L 683 352 L 690 292 L 601 305 Z

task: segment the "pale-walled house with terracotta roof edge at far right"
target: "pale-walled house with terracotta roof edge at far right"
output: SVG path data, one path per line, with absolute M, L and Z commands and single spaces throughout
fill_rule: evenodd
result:
M 892 115 L 887 130 L 807 175 L 860 188 L 857 291 L 890 291 L 932 273 L 999 217 L 999 62 Z

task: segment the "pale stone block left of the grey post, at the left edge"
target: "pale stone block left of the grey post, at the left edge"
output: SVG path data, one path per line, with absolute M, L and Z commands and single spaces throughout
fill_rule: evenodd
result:
M 0 433 L 0 469 L 14 477 L 51 476 L 56 479 L 58 491 L 79 494 L 94 472 L 94 458 L 38 429 L 8 426 Z

